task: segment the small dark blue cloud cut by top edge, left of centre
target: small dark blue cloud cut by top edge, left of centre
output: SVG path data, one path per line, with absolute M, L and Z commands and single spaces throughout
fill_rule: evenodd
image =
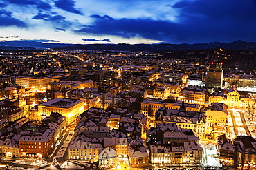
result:
M 67 12 L 82 14 L 82 12 L 75 9 L 75 2 L 72 0 L 57 0 L 55 1 L 55 6 L 57 6 L 57 8 L 61 8 L 62 10 L 66 10 Z

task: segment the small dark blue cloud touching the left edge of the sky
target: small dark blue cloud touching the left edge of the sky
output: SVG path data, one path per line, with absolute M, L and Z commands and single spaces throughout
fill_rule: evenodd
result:
M 26 23 L 12 17 L 12 12 L 0 10 L 0 27 L 6 26 L 26 27 Z

